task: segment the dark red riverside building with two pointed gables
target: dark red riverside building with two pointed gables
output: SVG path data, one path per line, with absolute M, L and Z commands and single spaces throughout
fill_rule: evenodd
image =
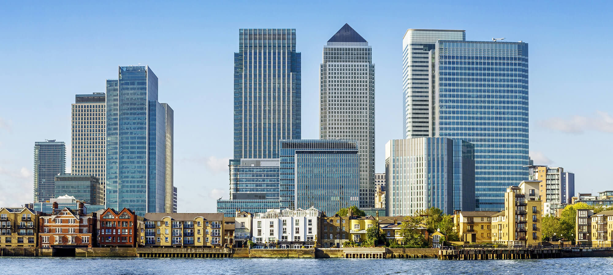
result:
M 143 217 L 134 211 L 123 208 L 116 211 L 107 208 L 100 215 L 97 227 L 98 244 L 103 248 L 137 248 L 145 242 L 145 223 Z

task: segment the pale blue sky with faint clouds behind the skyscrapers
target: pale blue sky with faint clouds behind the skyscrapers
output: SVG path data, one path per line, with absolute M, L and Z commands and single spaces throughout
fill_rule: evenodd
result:
M 175 111 L 178 210 L 215 212 L 232 157 L 239 28 L 295 28 L 302 138 L 317 139 L 322 46 L 349 23 L 376 64 L 376 172 L 402 139 L 406 29 L 463 29 L 466 40 L 530 46 L 530 155 L 575 173 L 575 191 L 613 189 L 613 4 L 607 1 L 4 2 L 0 9 L 0 207 L 32 200 L 34 142 L 70 144 L 75 94 L 104 92 L 118 65 L 149 65 Z M 70 158 L 67 159 L 70 172 Z

